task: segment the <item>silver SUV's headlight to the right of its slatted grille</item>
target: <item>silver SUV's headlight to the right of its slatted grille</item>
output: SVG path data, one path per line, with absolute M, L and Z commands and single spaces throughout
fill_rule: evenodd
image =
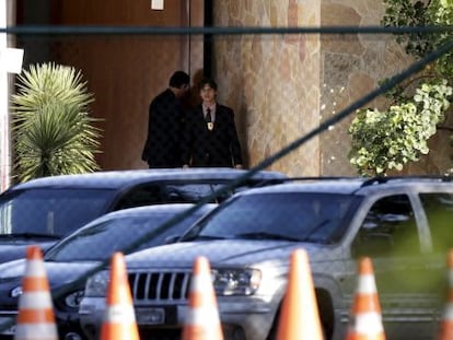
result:
M 252 295 L 259 286 L 262 272 L 257 269 L 212 269 L 217 295 Z

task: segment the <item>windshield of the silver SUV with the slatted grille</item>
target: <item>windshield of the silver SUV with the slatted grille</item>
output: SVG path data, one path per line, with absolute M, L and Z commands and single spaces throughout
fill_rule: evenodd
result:
M 280 239 L 333 244 L 344 235 L 358 198 L 339 194 L 278 192 L 233 198 L 182 241 Z

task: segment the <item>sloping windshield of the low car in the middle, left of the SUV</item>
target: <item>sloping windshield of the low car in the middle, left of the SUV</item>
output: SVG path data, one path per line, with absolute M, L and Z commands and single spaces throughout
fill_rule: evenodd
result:
M 161 245 L 169 236 L 182 235 L 200 215 L 201 212 L 196 211 L 178 223 L 169 225 L 163 224 L 175 216 L 174 212 L 111 219 L 67 237 L 53 247 L 45 259 L 61 262 L 106 260 L 114 251 L 126 249 L 153 231 L 155 233 L 143 239 L 137 249 Z

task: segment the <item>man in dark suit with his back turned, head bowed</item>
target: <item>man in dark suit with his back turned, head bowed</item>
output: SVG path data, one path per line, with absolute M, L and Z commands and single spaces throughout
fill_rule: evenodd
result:
M 190 84 L 189 75 L 176 71 L 170 78 L 169 87 L 150 104 L 148 138 L 143 145 L 141 160 L 149 167 L 181 167 L 181 138 L 184 112 L 181 99 Z

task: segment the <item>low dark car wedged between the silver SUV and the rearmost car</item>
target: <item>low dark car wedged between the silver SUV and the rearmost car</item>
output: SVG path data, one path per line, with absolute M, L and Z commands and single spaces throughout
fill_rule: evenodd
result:
M 129 253 L 164 244 L 182 235 L 196 220 L 217 204 L 156 204 L 107 213 L 58 242 L 44 255 L 54 298 L 59 339 L 84 339 L 79 323 L 79 303 L 85 277 L 107 263 L 115 251 Z M 0 265 L 0 328 L 13 336 L 18 300 L 22 293 L 25 259 Z

